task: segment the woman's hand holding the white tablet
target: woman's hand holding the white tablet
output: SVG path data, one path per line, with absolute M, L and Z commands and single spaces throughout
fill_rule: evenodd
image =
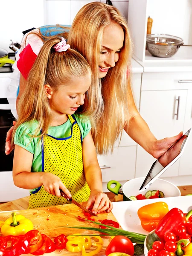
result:
M 149 152 L 154 158 L 159 158 L 162 156 L 169 148 L 176 143 L 183 136 L 183 132 L 181 131 L 180 134 L 165 138 L 163 140 L 156 140 L 153 145 L 151 145 L 151 152 Z M 171 153 L 171 151 L 170 151 Z

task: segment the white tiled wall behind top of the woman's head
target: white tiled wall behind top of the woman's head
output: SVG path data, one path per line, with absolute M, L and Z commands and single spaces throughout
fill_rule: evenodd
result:
M 46 24 L 65 24 L 70 25 L 73 22 L 74 17 L 77 12 L 87 3 L 92 1 L 82 1 L 82 0 L 46 0 L 46 12 L 45 20 Z M 99 1 L 100 2 L 100 1 Z M 105 3 L 106 1 L 101 1 Z M 127 19 L 128 17 L 128 0 L 111 0 L 114 7 L 119 9 L 119 11 Z

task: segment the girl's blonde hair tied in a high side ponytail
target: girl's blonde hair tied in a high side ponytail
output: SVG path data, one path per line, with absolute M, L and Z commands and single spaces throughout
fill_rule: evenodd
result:
M 41 136 L 47 133 L 52 116 L 49 99 L 44 89 L 45 84 L 49 84 L 55 91 L 60 85 L 70 82 L 73 78 L 81 78 L 91 73 L 85 58 L 74 49 L 55 52 L 52 47 L 60 41 L 61 38 L 58 36 L 45 41 L 35 60 L 27 79 L 26 89 L 19 101 L 18 120 L 15 124 L 12 143 L 18 126 L 27 121 L 38 121 L 33 137 L 38 136 L 40 130 Z M 90 98 L 85 97 L 80 113 L 85 115 L 87 112 L 90 113 L 90 105 Z

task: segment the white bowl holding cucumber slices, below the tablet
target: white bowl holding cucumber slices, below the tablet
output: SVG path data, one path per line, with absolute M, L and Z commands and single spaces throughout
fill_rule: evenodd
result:
M 160 190 L 164 193 L 165 197 L 175 197 L 180 196 L 180 190 L 175 186 L 173 183 L 157 179 L 155 180 L 151 186 L 149 186 L 148 189 L 146 189 L 143 192 L 140 192 L 140 187 L 144 181 L 144 177 L 142 178 L 135 178 L 132 180 L 128 180 L 123 186 L 122 186 L 122 192 L 127 197 L 130 198 L 131 196 L 136 196 L 139 194 L 145 195 L 146 192 L 149 190 Z

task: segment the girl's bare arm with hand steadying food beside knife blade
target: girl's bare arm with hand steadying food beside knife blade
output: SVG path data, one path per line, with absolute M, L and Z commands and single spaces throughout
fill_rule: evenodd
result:
M 97 160 L 95 145 L 91 132 L 83 139 L 82 143 L 83 167 L 87 183 L 91 193 L 87 203 L 87 209 L 92 208 L 92 212 L 110 212 L 113 204 L 108 196 L 103 193 L 102 189 L 102 173 Z

